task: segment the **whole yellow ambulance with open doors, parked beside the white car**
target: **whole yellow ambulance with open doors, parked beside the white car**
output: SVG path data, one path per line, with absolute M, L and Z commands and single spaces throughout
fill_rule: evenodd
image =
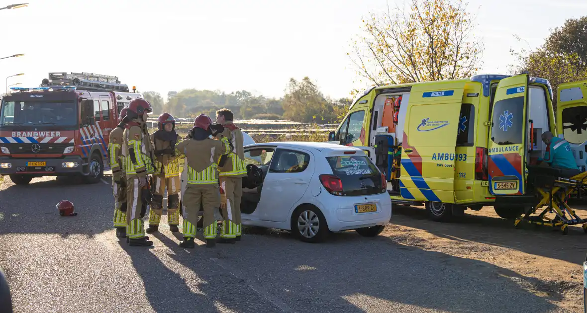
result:
M 362 148 L 387 177 L 394 203 L 425 205 L 434 220 L 494 206 L 514 219 L 535 203 L 527 165 L 544 156 L 541 134 L 571 144 L 585 170 L 587 81 L 479 75 L 365 91 L 329 141 Z

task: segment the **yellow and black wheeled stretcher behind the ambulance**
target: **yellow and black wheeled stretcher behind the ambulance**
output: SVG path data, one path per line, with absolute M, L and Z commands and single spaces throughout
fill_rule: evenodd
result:
M 524 223 L 561 227 L 562 234 L 568 234 L 569 225 L 583 224 L 583 231 L 587 233 L 587 220 L 576 215 L 575 210 L 566 203 L 574 191 L 581 198 L 582 193 L 587 190 L 587 172 L 565 178 L 558 169 L 528 167 L 531 172 L 536 172 L 532 175 L 532 183 L 538 203 L 515 220 L 515 227 Z M 554 218 L 546 216 L 547 213 L 554 213 Z

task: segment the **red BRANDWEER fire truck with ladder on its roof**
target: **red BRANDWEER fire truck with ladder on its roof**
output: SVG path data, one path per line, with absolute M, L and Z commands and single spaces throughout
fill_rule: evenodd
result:
M 33 177 L 102 179 L 110 131 L 140 93 L 117 77 L 49 73 L 41 87 L 11 88 L 0 106 L 0 175 L 26 185 Z

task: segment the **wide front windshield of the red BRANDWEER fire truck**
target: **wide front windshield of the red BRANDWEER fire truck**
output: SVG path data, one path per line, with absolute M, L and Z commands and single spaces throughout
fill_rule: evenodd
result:
M 0 127 L 37 125 L 72 127 L 77 125 L 74 101 L 3 101 Z

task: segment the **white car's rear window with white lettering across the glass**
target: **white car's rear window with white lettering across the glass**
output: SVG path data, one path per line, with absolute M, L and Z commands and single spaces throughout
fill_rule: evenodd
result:
M 381 193 L 381 174 L 364 155 L 329 156 L 326 158 L 333 175 L 342 181 L 345 196 L 376 195 Z

